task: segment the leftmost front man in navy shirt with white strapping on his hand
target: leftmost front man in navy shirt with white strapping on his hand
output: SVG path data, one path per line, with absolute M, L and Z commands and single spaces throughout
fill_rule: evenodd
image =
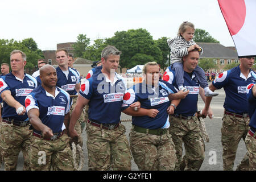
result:
M 24 73 L 26 54 L 19 50 L 11 52 L 12 71 L 0 78 L 0 94 L 3 99 L 1 126 L 1 150 L 5 170 L 16 170 L 18 155 L 22 151 L 23 170 L 30 169 L 28 150 L 30 148 L 29 120 L 26 114 L 25 98 L 37 86 L 36 78 Z

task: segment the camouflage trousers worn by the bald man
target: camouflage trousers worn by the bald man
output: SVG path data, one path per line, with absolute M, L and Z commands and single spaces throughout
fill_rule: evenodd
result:
M 69 137 L 63 134 L 56 140 L 45 140 L 31 136 L 31 171 L 73 171 L 75 170 Z

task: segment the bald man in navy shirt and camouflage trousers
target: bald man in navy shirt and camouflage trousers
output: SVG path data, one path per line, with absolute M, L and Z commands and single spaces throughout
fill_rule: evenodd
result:
M 33 133 L 31 170 L 74 170 L 72 151 L 66 132 L 69 122 L 70 96 L 56 87 L 57 73 L 52 65 L 40 68 L 42 85 L 25 100 Z M 40 154 L 40 155 L 39 155 Z

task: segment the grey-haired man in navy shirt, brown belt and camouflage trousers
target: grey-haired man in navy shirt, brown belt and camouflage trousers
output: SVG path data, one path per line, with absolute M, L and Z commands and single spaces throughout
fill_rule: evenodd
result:
M 102 50 L 102 69 L 81 84 L 76 107 L 71 115 L 69 135 L 73 138 L 77 136 L 75 123 L 84 106 L 89 104 L 86 127 L 89 170 L 131 170 L 126 129 L 120 123 L 126 84 L 115 73 L 120 55 L 121 51 L 114 46 Z M 133 106 L 139 107 L 139 104 Z

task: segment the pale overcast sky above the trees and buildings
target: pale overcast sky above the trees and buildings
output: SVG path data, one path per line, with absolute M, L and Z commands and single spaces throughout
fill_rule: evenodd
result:
M 173 38 L 183 21 L 234 46 L 217 0 L 9 0 L 0 2 L 0 17 L 0 39 L 33 38 L 42 50 L 76 42 L 79 34 L 95 40 L 137 28 L 155 40 Z

